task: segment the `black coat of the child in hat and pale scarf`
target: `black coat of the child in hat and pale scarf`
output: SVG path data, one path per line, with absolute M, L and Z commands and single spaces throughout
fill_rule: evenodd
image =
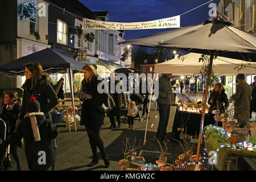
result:
M 58 131 L 44 115 L 37 115 L 36 120 L 41 140 L 35 142 L 30 118 L 26 117 L 20 123 L 17 131 L 9 137 L 8 142 L 19 142 L 24 137 L 28 168 L 32 171 L 44 171 L 55 163 L 55 150 L 52 139 L 57 137 Z M 38 163 L 40 151 L 46 154 L 46 164 Z

